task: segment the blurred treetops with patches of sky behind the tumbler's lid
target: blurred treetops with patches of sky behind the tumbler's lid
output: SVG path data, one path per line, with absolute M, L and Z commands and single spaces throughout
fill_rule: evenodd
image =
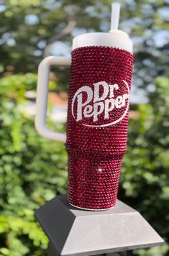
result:
M 135 85 L 148 88 L 155 76 L 163 76 L 168 70 L 168 1 L 121 2 L 120 29 L 129 33 L 134 42 Z M 109 31 L 111 3 L 112 0 L 1 0 L 0 73 L 34 73 L 44 50 L 48 49 L 49 55 L 64 55 L 58 45 L 54 52 L 49 49 L 53 42 L 62 41 L 70 47 L 75 35 Z M 61 71 L 57 68 L 59 88 L 65 90 L 68 74 Z

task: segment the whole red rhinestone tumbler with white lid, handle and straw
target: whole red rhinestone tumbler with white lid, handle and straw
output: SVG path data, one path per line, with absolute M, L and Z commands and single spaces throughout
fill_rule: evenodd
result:
M 72 58 L 50 56 L 39 65 L 35 125 L 42 136 L 66 142 L 69 204 L 80 209 L 115 206 L 126 152 L 132 79 L 132 41 L 117 29 L 120 7 L 112 6 L 109 33 L 74 37 Z M 49 68 L 71 65 L 67 136 L 47 129 Z

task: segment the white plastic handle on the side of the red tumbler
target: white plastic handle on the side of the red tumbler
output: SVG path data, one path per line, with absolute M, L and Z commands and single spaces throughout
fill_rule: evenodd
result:
M 52 65 L 68 66 L 71 64 L 71 58 L 49 56 L 44 58 L 39 64 L 37 81 L 37 102 L 35 127 L 37 132 L 49 140 L 66 142 L 66 134 L 52 132 L 47 129 L 47 97 L 49 89 L 49 71 Z

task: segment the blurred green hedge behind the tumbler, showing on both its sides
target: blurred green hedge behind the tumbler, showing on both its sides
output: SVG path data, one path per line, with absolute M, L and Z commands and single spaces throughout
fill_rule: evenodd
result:
M 64 145 L 40 137 L 34 119 L 24 112 L 24 93 L 35 90 L 36 83 L 31 73 L 0 80 L 0 255 L 45 255 L 47 237 L 34 220 L 34 209 L 67 187 Z M 150 103 L 137 106 L 137 119 L 130 120 L 119 198 L 139 210 L 168 242 L 168 79 L 157 78 L 156 86 Z M 166 243 L 135 255 L 167 253 Z

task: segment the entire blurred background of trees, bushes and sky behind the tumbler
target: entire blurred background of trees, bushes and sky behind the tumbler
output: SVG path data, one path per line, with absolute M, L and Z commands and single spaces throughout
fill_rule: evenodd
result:
M 134 43 L 127 154 L 119 198 L 165 239 L 134 255 L 169 255 L 169 1 L 121 1 Z M 110 0 L 0 0 L 0 255 L 46 255 L 34 209 L 66 193 L 67 152 L 34 128 L 37 66 L 69 56 L 72 38 L 108 32 Z M 69 69 L 52 70 L 49 127 L 64 131 Z

